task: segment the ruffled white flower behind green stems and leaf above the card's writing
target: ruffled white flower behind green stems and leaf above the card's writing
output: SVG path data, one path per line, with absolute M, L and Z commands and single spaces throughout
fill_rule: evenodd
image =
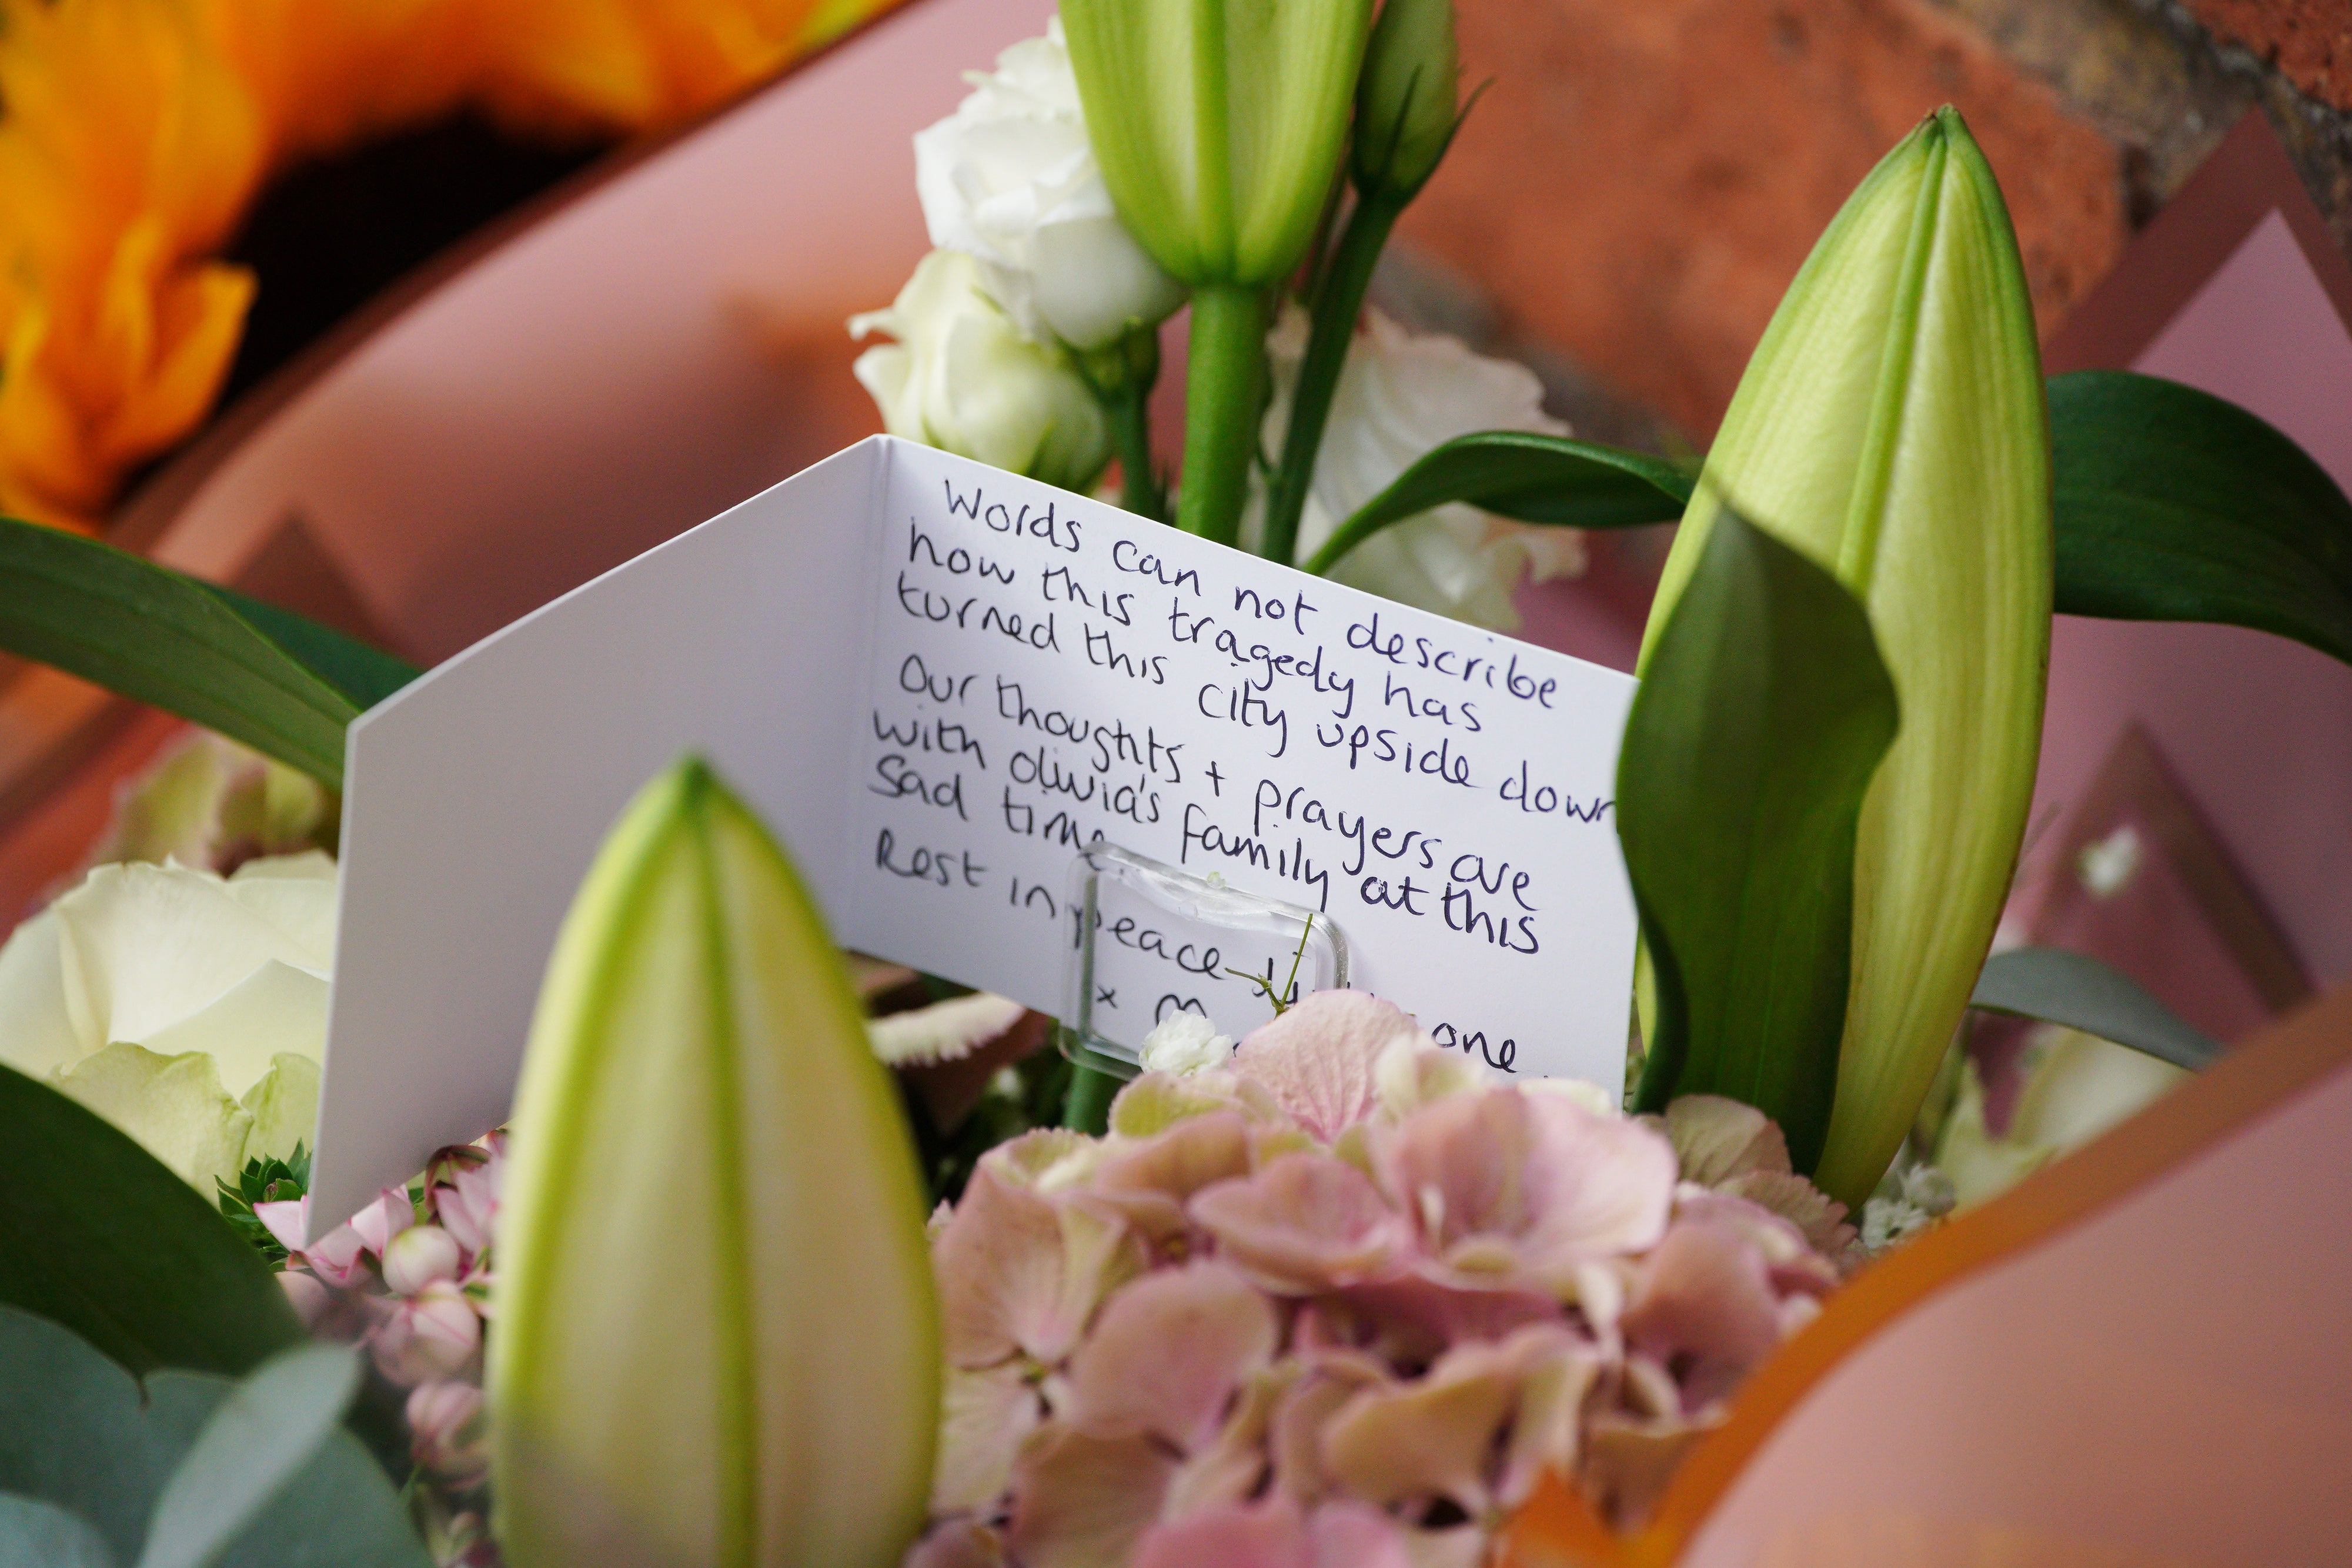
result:
M 1308 350 L 1308 313 L 1287 306 L 1265 339 L 1275 397 L 1265 409 L 1265 451 L 1282 451 L 1291 388 Z M 1357 508 L 1388 489 L 1430 447 L 1472 430 L 1566 435 L 1543 411 L 1543 383 L 1524 364 L 1486 360 L 1461 339 L 1411 334 L 1378 310 L 1348 346 L 1331 416 L 1315 451 L 1315 482 L 1298 517 L 1298 559 L 1308 559 Z M 1244 541 L 1265 515 L 1263 480 L 1251 480 Z M 1538 583 L 1585 569 L 1581 529 L 1538 529 L 1472 505 L 1439 505 L 1406 517 L 1350 550 L 1331 576 L 1352 588 L 1432 609 L 1439 616 L 1517 630 L 1510 597 L 1522 574 Z

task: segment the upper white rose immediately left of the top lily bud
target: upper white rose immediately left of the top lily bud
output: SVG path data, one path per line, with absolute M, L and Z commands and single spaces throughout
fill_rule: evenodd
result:
M 967 73 L 971 96 L 915 132 L 931 244 L 981 261 L 981 287 L 1030 339 L 1101 348 L 1183 303 L 1110 205 L 1077 103 L 1061 16 Z

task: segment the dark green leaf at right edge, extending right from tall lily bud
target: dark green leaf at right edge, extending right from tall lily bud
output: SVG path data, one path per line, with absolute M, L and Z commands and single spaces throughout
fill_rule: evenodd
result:
M 2056 609 L 2223 621 L 2352 663 L 2352 501 L 2296 442 L 2197 388 L 2051 376 Z

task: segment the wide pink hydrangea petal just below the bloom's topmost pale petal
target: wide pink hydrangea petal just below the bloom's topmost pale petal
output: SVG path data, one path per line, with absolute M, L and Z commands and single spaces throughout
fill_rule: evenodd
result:
M 1284 1154 L 1202 1190 L 1190 1213 L 1228 1262 L 1277 1293 L 1392 1279 L 1414 1255 L 1411 1225 L 1362 1171 L 1329 1154 Z

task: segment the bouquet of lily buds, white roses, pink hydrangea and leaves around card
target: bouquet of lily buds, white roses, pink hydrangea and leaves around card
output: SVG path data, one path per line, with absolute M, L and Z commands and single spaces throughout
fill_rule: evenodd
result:
M 1905 1145 L 1971 1001 L 2199 1065 L 2110 971 L 1987 964 L 2051 611 L 2352 661 L 2352 503 L 2201 393 L 2044 381 L 1952 110 L 1696 473 L 1578 442 L 1364 313 L 1463 113 L 1446 0 L 1065 0 L 917 139 L 938 249 L 858 376 L 898 433 L 1117 461 L 1141 515 L 1489 623 L 1576 529 L 1679 517 L 1616 792 L 1630 1093 L 1345 990 L 1073 1072 L 1016 1004 L 851 971 L 682 759 L 586 867 L 513 1124 L 313 1225 L 343 726 L 416 672 L 5 522 L 0 646 L 226 741 L 0 950 L 0 1556 L 1425 1568 L 1543 1488 L 1618 1540 L 1950 1208 Z

